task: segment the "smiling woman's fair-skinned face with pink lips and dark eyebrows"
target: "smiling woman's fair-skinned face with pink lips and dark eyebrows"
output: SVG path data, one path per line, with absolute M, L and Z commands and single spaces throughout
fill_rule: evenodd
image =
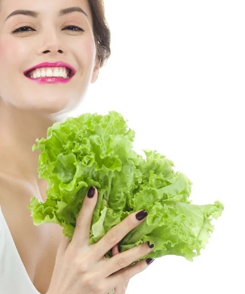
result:
M 0 99 L 45 114 L 72 111 L 98 78 L 88 0 L 0 0 L 0 6 Z M 59 15 L 70 7 L 82 8 L 88 18 L 78 11 Z M 5 20 L 15 10 L 35 11 L 38 16 L 17 14 Z M 19 32 L 13 33 L 16 29 Z M 40 63 L 57 61 L 76 70 L 67 83 L 37 83 L 24 75 Z

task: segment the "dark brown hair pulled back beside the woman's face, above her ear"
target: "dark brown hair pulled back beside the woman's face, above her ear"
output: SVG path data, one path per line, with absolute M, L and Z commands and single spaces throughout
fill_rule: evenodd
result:
M 93 35 L 100 68 L 106 65 L 111 56 L 111 31 L 105 17 L 104 0 L 89 0 L 93 22 Z

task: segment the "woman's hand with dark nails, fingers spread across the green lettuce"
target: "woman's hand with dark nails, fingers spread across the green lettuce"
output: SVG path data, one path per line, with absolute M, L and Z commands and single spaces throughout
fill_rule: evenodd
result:
M 86 194 L 72 240 L 63 236 L 57 250 L 47 294 L 108 294 L 114 288 L 125 288 L 122 285 L 127 285 L 135 274 L 148 267 L 146 260 L 134 263 L 151 252 L 152 248 L 146 243 L 117 253 L 111 258 L 105 258 L 105 254 L 112 247 L 146 220 L 136 219 L 139 211 L 112 227 L 97 243 L 89 244 L 91 221 L 97 199 L 96 189 L 92 198 Z M 134 264 L 131 265 L 132 263 Z

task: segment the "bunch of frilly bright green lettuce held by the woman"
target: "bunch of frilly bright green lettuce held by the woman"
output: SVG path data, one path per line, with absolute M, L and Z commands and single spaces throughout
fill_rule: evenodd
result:
M 150 241 L 153 250 L 140 258 L 168 254 L 193 261 L 208 243 L 223 204 L 193 205 L 188 200 L 193 184 L 164 155 L 133 148 L 135 132 L 121 114 L 83 114 L 54 123 L 47 139 L 37 139 L 39 177 L 48 182 L 47 199 L 32 197 L 28 209 L 35 225 L 55 222 L 72 239 L 76 219 L 90 186 L 98 190 L 89 243 L 98 242 L 131 213 L 145 209 L 148 217 L 120 241 L 121 252 Z M 106 257 L 111 257 L 111 250 Z

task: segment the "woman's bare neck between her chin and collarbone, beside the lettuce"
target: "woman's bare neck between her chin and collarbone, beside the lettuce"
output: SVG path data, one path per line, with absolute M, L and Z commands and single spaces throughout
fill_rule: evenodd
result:
M 21 110 L 0 98 L 0 174 L 28 182 L 43 196 L 47 182 L 38 177 L 40 150 L 32 151 L 36 139 L 46 138 L 48 127 L 66 117 Z

